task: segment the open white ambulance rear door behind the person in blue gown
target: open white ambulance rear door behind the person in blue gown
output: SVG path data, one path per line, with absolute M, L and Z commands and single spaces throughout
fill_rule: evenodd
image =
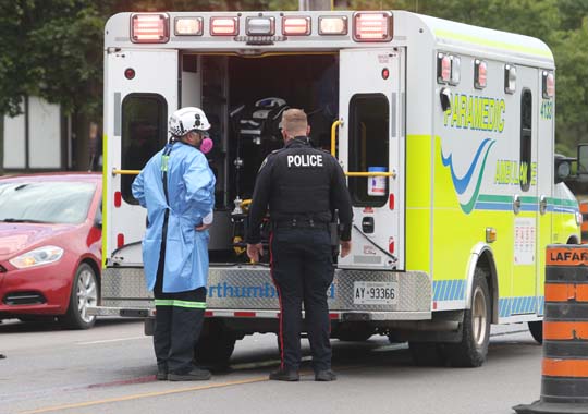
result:
M 177 109 L 177 51 L 117 49 L 105 66 L 106 245 L 109 265 L 140 266 L 146 210 L 132 194 L 143 169 L 167 141 Z

